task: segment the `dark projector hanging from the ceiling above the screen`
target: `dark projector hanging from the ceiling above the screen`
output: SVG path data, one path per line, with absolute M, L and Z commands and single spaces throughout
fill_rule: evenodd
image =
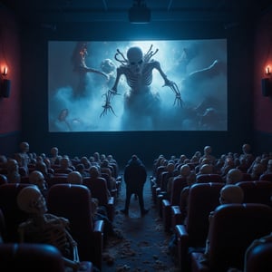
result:
M 129 20 L 132 24 L 147 24 L 151 22 L 151 10 L 144 0 L 133 0 L 129 9 Z

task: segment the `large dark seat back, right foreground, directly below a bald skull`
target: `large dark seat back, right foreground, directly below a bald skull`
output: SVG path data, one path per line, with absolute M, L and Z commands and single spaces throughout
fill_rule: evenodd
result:
M 270 234 L 272 208 L 264 204 L 225 204 L 215 209 L 210 223 L 209 268 L 243 269 L 244 256 L 254 239 Z

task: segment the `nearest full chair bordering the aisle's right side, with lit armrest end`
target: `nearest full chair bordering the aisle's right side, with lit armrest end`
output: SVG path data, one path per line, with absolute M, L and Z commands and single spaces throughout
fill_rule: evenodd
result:
M 183 225 L 172 226 L 178 239 L 177 258 L 182 272 L 189 269 L 189 248 L 205 247 L 209 213 L 219 206 L 220 189 L 224 185 L 221 182 L 196 183 L 189 189 L 187 218 Z

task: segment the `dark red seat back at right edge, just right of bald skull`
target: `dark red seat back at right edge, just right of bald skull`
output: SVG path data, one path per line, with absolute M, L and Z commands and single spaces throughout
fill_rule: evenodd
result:
M 267 180 L 240 181 L 237 185 L 244 191 L 244 203 L 272 205 L 272 182 Z

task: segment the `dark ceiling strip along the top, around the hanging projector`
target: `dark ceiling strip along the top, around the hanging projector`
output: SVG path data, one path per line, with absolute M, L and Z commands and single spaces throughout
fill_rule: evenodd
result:
M 2 0 L 23 22 L 128 22 L 129 8 L 144 2 L 151 22 L 248 22 L 271 8 L 271 0 Z

